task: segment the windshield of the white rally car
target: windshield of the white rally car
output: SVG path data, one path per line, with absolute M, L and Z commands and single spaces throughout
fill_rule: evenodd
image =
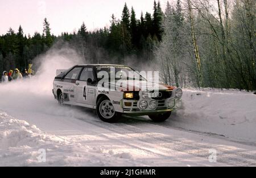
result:
M 97 66 L 96 69 L 98 80 L 101 80 L 101 78 L 109 78 L 110 80 L 147 81 L 146 78 L 142 77 L 138 72 L 126 66 L 104 65 Z

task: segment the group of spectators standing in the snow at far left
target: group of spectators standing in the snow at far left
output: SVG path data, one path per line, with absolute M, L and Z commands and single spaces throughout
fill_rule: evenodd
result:
M 22 78 L 31 77 L 31 74 L 27 72 L 27 69 L 23 69 L 22 72 L 19 71 L 19 69 L 10 70 L 9 72 L 3 71 L 3 75 L 1 78 L 1 82 L 9 82 L 12 80 L 20 80 Z

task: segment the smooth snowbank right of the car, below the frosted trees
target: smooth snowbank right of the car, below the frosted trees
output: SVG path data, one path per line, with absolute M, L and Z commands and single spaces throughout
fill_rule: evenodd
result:
M 171 125 L 256 142 L 256 95 L 239 90 L 184 89 L 183 109 Z

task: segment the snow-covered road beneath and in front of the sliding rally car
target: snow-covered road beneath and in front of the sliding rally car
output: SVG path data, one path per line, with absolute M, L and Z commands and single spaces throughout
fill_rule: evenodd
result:
M 22 101 L 22 97 L 19 99 Z M 15 105 L 15 102 L 10 102 L 10 105 L 8 102 L 1 102 L 0 108 L 15 118 L 36 125 L 47 134 L 67 140 L 69 146 L 72 144 L 89 146 L 97 154 L 100 154 L 98 156 L 90 155 L 89 160 L 91 162 L 92 160 L 99 161 L 90 164 L 87 158 L 84 158 L 88 156 L 87 153 L 81 152 L 78 156 L 79 159 L 77 159 L 71 156 L 76 152 L 73 148 L 73 152 L 65 153 L 60 147 L 59 150 L 50 154 L 49 159 L 52 161 L 49 164 L 106 166 L 256 165 L 255 146 L 230 142 L 219 136 L 175 129 L 171 126 L 171 120 L 164 123 L 154 123 L 147 117 L 125 117 L 119 123 L 111 124 L 100 121 L 93 110 L 73 106 L 57 106 L 57 102 L 51 96 L 36 98 L 36 101 L 40 102 L 32 102 L 23 107 Z M 20 104 L 20 101 L 17 104 Z M 47 149 L 46 146 L 42 148 Z M 216 150 L 217 162 L 209 162 L 209 156 L 212 154 L 209 151 L 212 150 Z M 55 162 L 55 159 L 61 159 L 57 157 L 59 154 L 68 161 Z M 105 159 L 104 156 L 106 155 L 112 156 L 112 159 L 108 157 Z M 9 162 L 9 159 L 7 160 Z

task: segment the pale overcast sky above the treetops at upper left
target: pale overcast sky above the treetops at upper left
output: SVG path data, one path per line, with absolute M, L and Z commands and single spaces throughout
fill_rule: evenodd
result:
M 153 12 L 154 0 L 0 0 L 0 34 L 6 34 L 10 27 L 17 32 L 19 24 L 24 34 L 42 34 L 45 17 L 55 35 L 77 31 L 82 22 L 88 30 L 109 26 L 112 14 L 121 18 L 125 2 L 129 9 L 134 7 L 137 18 L 141 11 Z M 160 3 L 164 10 L 167 0 Z

